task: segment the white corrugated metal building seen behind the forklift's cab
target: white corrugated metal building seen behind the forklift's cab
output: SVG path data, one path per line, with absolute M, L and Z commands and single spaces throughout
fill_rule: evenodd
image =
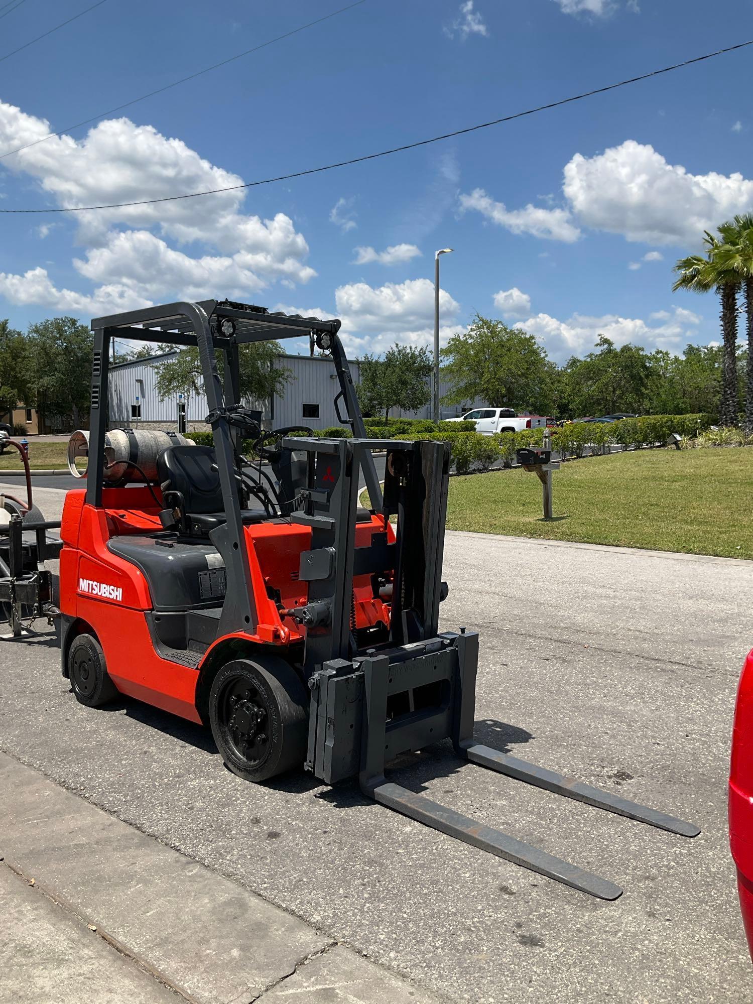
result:
M 178 422 L 178 395 L 160 400 L 157 393 L 159 367 L 175 358 L 179 349 L 161 352 L 143 359 L 118 362 L 109 369 L 109 425 L 110 427 L 139 425 L 147 428 L 175 428 Z M 353 382 L 360 379 L 357 360 L 348 360 Z M 339 387 L 334 364 L 328 356 L 278 355 L 275 365 L 290 370 L 290 380 L 281 395 L 265 403 L 264 419 L 273 427 L 306 425 L 312 429 L 326 429 L 339 425 L 334 411 L 334 398 Z M 449 390 L 444 381 L 440 395 Z M 186 422 L 189 429 L 207 428 L 207 402 L 204 395 L 190 395 L 185 399 Z M 442 418 L 462 415 L 483 402 L 469 402 L 467 407 L 442 406 Z M 256 407 L 260 407 L 257 403 Z M 431 418 L 431 404 L 418 412 L 391 414 L 398 418 Z

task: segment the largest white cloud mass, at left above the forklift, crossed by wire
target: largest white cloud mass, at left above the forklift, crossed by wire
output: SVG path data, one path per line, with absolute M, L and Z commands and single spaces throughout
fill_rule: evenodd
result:
M 48 132 L 44 119 L 0 102 L 0 149 L 33 143 Z M 164 137 L 150 126 L 135 126 L 128 118 L 99 122 L 81 141 L 53 137 L 6 158 L 2 165 L 34 179 L 53 204 L 66 209 L 243 183 L 182 141 Z M 84 248 L 86 260 L 74 264 L 83 276 L 102 286 L 90 296 L 72 293 L 71 302 L 80 299 L 84 306 L 79 312 L 85 313 L 91 303 L 113 298 L 124 297 L 133 306 L 193 293 L 227 292 L 240 298 L 273 281 L 308 281 L 316 273 L 305 264 L 308 245 L 302 234 L 283 213 L 272 219 L 242 213 L 245 198 L 241 190 L 211 199 L 76 214 L 76 242 Z M 39 235 L 45 236 L 49 226 L 43 225 Z M 194 257 L 188 250 L 171 248 L 169 240 L 184 246 L 200 243 L 212 253 Z M 154 271 L 145 266 L 144 254 Z M 37 302 L 18 299 L 36 290 L 45 297 L 38 302 L 53 305 L 56 296 L 61 303 L 67 302 L 69 291 L 56 290 L 48 279 L 41 282 L 38 272 L 6 276 L 6 295 L 16 297 L 14 302 Z

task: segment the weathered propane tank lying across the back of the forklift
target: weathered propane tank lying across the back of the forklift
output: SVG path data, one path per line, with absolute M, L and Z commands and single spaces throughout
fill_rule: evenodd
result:
M 196 444 L 178 433 L 164 433 L 156 429 L 111 429 L 104 434 L 103 480 L 109 484 L 124 480 L 144 483 L 145 478 L 147 481 L 158 481 L 157 458 L 169 446 Z M 74 478 L 86 477 L 88 456 L 88 430 L 77 429 L 68 440 L 68 470 Z M 136 469 L 137 466 L 141 471 Z

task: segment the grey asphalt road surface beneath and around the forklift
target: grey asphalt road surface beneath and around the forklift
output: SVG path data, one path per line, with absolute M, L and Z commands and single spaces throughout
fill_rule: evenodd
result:
M 449 1000 L 753 1001 L 726 832 L 753 562 L 448 533 L 445 577 L 442 626 L 481 634 L 480 741 L 703 832 L 683 839 L 461 765 L 447 745 L 390 778 L 616 882 L 615 903 L 352 784 L 245 784 L 210 734 L 136 702 L 84 709 L 51 636 L 0 650 L 0 747 Z

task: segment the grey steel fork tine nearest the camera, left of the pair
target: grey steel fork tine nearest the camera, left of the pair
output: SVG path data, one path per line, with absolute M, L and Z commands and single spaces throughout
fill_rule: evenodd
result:
M 373 789 L 372 797 L 382 805 L 432 826 L 448 836 L 454 836 L 490 854 L 504 857 L 513 864 L 538 871 L 539 874 L 576 889 L 580 893 L 588 893 L 589 896 L 599 900 L 616 900 L 622 894 L 618 886 L 605 878 L 583 871 L 568 861 L 547 854 L 546 851 L 517 840 L 514 836 L 508 836 L 507 833 L 491 826 L 485 826 L 454 809 L 433 802 L 424 795 L 417 795 L 414 791 L 401 787 L 400 784 L 390 782 L 381 784 Z

